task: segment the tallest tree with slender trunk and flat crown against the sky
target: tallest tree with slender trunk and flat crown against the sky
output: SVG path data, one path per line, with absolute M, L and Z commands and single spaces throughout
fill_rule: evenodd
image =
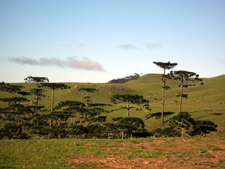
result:
M 177 63 L 170 63 L 170 62 L 153 62 L 157 66 L 163 69 L 163 75 L 166 73 L 166 69 L 173 69 Z M 161 113 L 161 125 L 163 125 L 163 117 L 164 117 L 164 104 L 165 104 L 165 90 L 168 89 L 166 86 L 166 78 L 163 76 L 162 77 L 162 82 L 163 82 L 163 95 L 162 95 L 162 113 Z

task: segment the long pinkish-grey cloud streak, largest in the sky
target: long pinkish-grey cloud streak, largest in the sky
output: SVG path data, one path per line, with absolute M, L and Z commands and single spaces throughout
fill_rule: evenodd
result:
M 88 58 L 83 58 L 82 60 L 79 60 L 76 57 L 67 57 L 65 60 L 60 60 L 57 58 L 40 58 L 39 60 L 36 60 L 23 56 L 9 57 L 9 61 L 26 65 L 58 66 L 70 67 L 72 69 L 105 71 L 105 69 L 98 62 L 92 61 Z

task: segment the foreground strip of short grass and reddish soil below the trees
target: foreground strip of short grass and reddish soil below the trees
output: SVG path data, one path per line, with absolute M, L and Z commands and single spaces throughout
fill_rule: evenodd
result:
M 145 167 L 149 167 L 154 162 L 152 159 L 157 158 L 165 161 L 160 164 L 164 167 L 179 164 L 223 168 L 225 158 L 215 159 L 215 153 L 225 153 L 223 145 L 225 139 L 210 138 L 0 140 L 0 168 L 107 168 L 112 159 L 116 159 L 117 165 L 121 163 L 120 168 L 127 168 L 122 163 L 126 161 L 131 165 L 135 159 L 139 162 L 144 159 Z

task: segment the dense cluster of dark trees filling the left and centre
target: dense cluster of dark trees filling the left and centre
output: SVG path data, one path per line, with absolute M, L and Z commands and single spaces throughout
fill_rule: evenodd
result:
M 106 122 L 106 113 L 100 106 L 93 106 L 90 94 L 95 88 L 80 88 L 84 91 L 84 102 L 61 101 L 54 106 L 54 92 L 67 89 L 63 83 L 49 83 L 46 77 L 28 76 L 25 82 L 36 83 L 30 92 L 22 91 L 23 86 L 0 84 L 0 90 L 12 93 L 12 97 L 0 98 L 2 126 L 0 139 L 26 138 L 127 138 L 146 135 L 144 122 L 137 117 L 118 117 L 112 123 Z M 52 90 L 51 110 L 45 111 L 41 99 L 45 88 Z M 18 96 L 19 95 L 19 96 Z M 28 100 L 26 96 L 32 95 Z M 148 103 L 139 95 L 114 95 L 114 102 L 142 105 Z M 30 104 L 29 104 L 30 102 Z M 147 105 L 146 105 L 147 106 Z

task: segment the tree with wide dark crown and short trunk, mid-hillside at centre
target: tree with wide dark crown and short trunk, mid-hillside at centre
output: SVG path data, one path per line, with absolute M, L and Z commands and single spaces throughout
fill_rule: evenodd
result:
M 142 105 L 144 108 L 149 107 L 149 101 L 144 99 L 140 95 L 130 95 L 130 94 L 117 94 L 111 97 L 111 102 L 116 103 L 127 103 L 127 117 L 129 117 L 130 104 Z

